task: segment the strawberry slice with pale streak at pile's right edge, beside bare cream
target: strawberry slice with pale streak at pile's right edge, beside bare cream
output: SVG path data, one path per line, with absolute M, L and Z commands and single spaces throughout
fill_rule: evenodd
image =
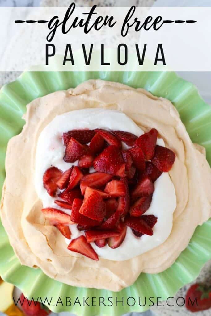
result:
M 139 197 L 149 196 L 154 192 L 154 185 L 149 177 L 143 177 L 131 192 L 132 203 Z

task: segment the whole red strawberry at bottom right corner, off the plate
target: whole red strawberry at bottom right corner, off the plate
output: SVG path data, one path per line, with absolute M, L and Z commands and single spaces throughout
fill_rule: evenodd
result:
M 211 286 L 203 284 L 193 284 L 185 299 L 185 306 L 191 312 L 199 312 L 211 307 Z

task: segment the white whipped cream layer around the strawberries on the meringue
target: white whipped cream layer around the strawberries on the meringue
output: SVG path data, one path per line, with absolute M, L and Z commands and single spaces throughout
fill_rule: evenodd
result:
M 115 110 L 90 108 L 56 116 L 40 133 L 36 149 L 34 185 L 37 195 L 42 201 L 43 208 L 53 207 L 71 214 L 71 210 L 63 209 L 54 203 L 57 198 L 48 195 L 43 187 L 42 177 L 44 172 L 51 166 L 65 171 L 73 165 L 78 165 L 78 161 L 66 163 L 63 160 L 65 146 L 62 141 L 62 135 L 64 132 L 73 129 L 95 128 L 127 131 L 138 137 L 144 133 L 126 114 Z M 161 138 L 157 140 L 157 144 L 165 146 Z M 146 215 L 152 214 L 158 217 L 158 222 L 153 228 L 154 234 L 152 236 L 143 235 L 141 238 L 138 238 L 132 233 L 130 228 L 127 228 L 125 240 L 116 249 L 112 249 L 108 245 L 99 248 L 92 242 L 91 245 L 100 258 L 115 261 L 127 260 L 159 246 L 168 238 L 172 228 L 173 212 L 177 204 L 174 185 L 169 174 L 162 173 L 155 181 L 154 186 L 155 191 L 152 196 L 152 202 L 145 213 Z M 78 231 L 76 225 L 70 225 L 70 229 L 71 239 L 84 234 L 83 231 Z M 69 244 L 70 240 L 66 239 L 66 243 Z

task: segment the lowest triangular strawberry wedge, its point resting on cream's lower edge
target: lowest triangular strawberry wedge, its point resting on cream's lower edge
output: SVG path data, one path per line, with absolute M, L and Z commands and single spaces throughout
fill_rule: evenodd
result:
M 98 261 L 98 255 L 92 248 L 92 246 L 87 242 L 86 238 L 82 235 L 76 239 L 71 240 L 68 250 L 78 252 L 90 259 Z

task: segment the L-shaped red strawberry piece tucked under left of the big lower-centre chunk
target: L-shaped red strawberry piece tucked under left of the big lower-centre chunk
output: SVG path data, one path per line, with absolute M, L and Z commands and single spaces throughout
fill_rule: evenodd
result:
M 81 199 L 79 199 L 79 198 L 74 199 L 74 201 L 72 203 L 72 212 L 71 212 L 71 216 L 70 216 L 71 220 L 74 223 L 77 223 L 79 225 L 83 225 L 86 227 L 93 227 L 93 226 L 99 225 L 98 221 L 93 221 L 89 217 L 86 217 L 86 216 L 79 213 L 79 210 L 80 210 L 82 203 L 83 203 L 83 201 Z

